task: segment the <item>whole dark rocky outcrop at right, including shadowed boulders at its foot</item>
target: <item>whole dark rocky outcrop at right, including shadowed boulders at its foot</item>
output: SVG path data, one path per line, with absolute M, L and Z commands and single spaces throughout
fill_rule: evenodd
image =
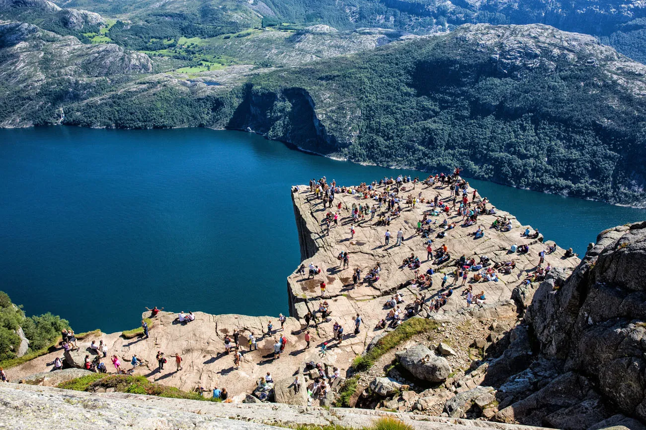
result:
M 483 384 L 497 387 L 494 420 L 643 428 L 645 261 L 646 222 L 638 222 L 599 234 L 571 274 L 550 272 L 486 373 Z

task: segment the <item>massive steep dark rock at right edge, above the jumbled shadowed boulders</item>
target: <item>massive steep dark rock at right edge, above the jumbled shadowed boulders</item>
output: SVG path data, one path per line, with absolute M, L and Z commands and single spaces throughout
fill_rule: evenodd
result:
M 587 376 L 624 414 L 646 421 L 646 222 L 603 231 L 570 277 L 543 282 L 528 308 L 547 358 Z

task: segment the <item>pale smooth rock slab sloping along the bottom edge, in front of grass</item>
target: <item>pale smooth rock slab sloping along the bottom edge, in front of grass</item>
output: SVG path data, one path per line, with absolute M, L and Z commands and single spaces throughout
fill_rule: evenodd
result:
M 396 416 L 419 430 L 542 428 L 370 409 L 224 404 L 127 393 L 85 393 L 26 384 L 1 384 L 0 398 L 0 427 L 14 429 L 269 430 L 271 424 L 335 424 L 361 428 L 380 416 Z

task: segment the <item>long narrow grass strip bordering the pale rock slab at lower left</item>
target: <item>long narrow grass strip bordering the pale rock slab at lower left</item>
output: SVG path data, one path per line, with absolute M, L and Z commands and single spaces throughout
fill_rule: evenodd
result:
M 204 397 L 199 393 L 187 393 L 176 387 L 164 386 L 150 382 L 145 376 L 109 375 L 101 373 L 81 376 L 58 384 L 58 388 L 74 391 L 96 391 L 97 389 L 114 389 L 118 393 L 145 394 L 158 397 L 185 398 L 188 400 L 207 400 L 222 402 L 220 398 Z

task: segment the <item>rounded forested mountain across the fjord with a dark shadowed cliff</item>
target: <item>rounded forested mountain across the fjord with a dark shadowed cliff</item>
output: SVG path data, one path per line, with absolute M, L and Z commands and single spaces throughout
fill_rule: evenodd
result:
M 593 37 L 477 24 L 260 73 L 217 95 L 149 79 L 134 104 L 132 93 L 110 93 L 69 104 L 64 122 L 251 128 L 353 161 L 462 166 L 517 187 L 643 204 L 645 75 Z

